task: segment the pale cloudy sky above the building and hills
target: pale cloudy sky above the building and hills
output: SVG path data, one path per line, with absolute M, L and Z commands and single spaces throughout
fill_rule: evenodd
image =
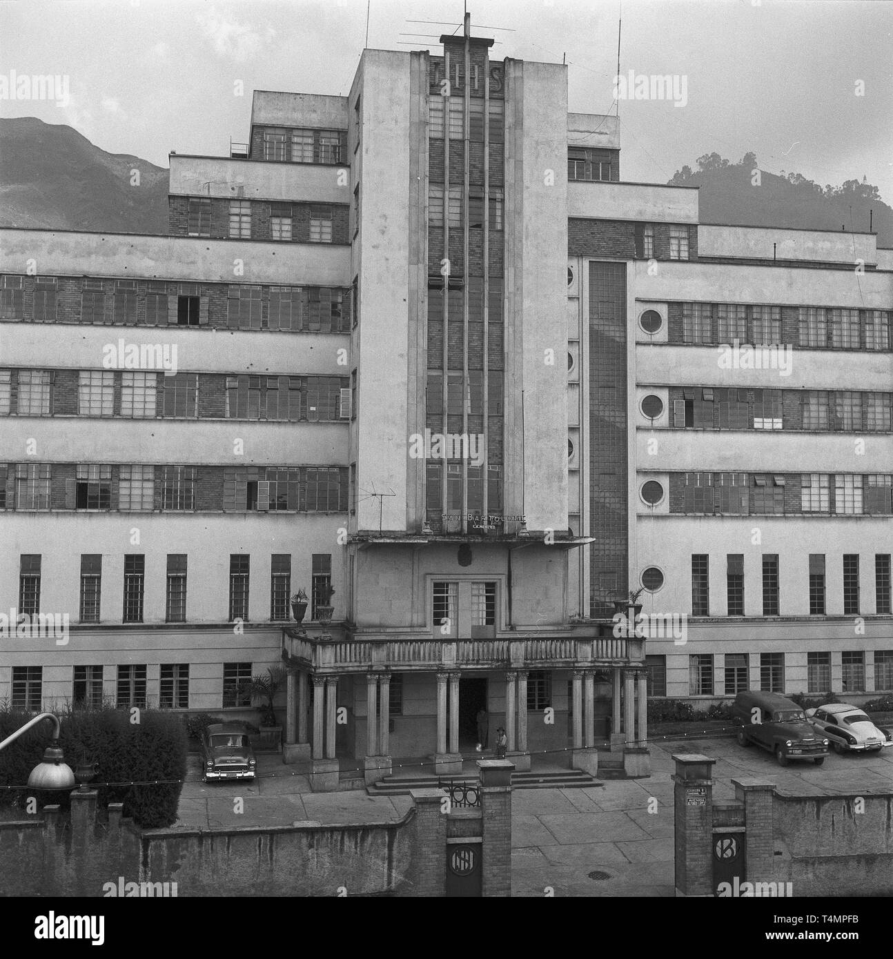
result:
M 752 150 L 764 170 L 822 184 L 867 175 L 893 201 L 889 0 L 478 0 L 470 9 L 481 25 L 473 33 L 498 40 L 494 58 L 566 56 L 572 111 L 613 112 L 621 15 L 623 76 L 686 78 L 684 106 L 621 101 L 623 179 L 666 181 L 702 153 L 737 161 Z M 160 166 L 172 150 L 225 154 L 230 138 L 247 139 L 252 89 L 348 92 L 366 10 L 366 0 L 7 0 L 0 78 L 67 75 L 70 100 L 0 99 L 0 115 L 70 124 L 104 150 Z M 437 36 L 454 28 L 411 21 L 461 18 L 457 0 L 371 0 L 368 46 L 439 53 Z

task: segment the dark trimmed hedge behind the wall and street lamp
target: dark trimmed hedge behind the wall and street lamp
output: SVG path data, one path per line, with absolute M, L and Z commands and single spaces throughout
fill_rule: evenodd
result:
M 139 722 L 130 722 L 128 710 L 71 709 L 58 713 L 59 745 L 64 761 L 76 769 L 82 761 L 97 761 L 100 805 L 123 803 L 124 815 L 143 829 L 176 822 L 182 781 L 186 776 L 186 730 L 179 716 L 141 710 Z M 33 713 L 0 711 L 0 739 L 23 726 Z M 35 765 L 50 745 L 49 720 L 29 730 L 0 753 L 0 803 L 23 807 L 35 796 L 40 807 L 69 806 L 68 792 L 35 793 L 25 786 Z M 155 782 L 157 781 L 157 783 Z M 106 783 L 112 785 L 105 785 Z M 130 783 L 148 783 L 130 785 Z

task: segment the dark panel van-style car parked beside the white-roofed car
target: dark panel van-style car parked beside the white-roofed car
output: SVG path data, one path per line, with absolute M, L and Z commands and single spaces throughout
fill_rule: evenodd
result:
M 762 746 L 780 766 L 787 766 L 788 760 L 812 760 L 820 766 L 828 755 L 828 740 L 807 722 L 796 703 L 777 692 L 740 692 L 732 716 L 740 725 L 740 745 Z

